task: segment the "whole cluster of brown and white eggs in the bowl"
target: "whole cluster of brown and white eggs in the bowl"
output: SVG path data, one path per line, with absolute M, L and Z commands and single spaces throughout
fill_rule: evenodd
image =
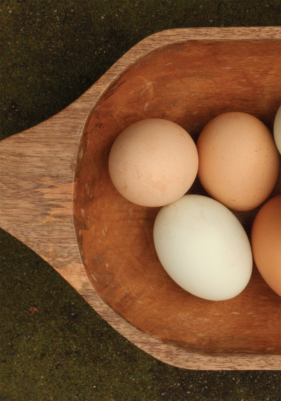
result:
M 240 294 L 252 255 L 281 295 L 280 196 L 259 210 L 251 244 L 231 211 L 255 209 L 271 194 L 279 172 L 280 115 L 281 108 L 275 141 L 256 117 L 230 112 L 212 119 L 196 145 L 179 125 L 155 118 L 126 128 L 111 148 L 114 186 L 132 203 L 162 207 L 153 229 L 157 255 L 170 277 L 195 296 L 227 300 Z M 186 195 L 197 175 L 210 197 Z

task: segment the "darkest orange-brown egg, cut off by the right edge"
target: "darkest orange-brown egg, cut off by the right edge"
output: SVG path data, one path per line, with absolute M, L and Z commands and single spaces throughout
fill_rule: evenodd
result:
M 252 253 L 267 284 L 281 296 L 281 196 L 259 210 L 252 225 Z

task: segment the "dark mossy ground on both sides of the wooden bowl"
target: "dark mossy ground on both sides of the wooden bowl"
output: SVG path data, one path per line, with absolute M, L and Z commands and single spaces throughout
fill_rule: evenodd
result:
M 1 139 L 69 105 L 154 32 L 280 25 L 275 0 L 15 0 L 0 9 Z M 279 372 L 190 371 L 155 360 L 4 231 L 1 294 L 2 401 L 280 399 Z

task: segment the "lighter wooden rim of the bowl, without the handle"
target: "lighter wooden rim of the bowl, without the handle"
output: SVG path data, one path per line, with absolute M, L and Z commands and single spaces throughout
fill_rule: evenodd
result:
M 280 40 L 279 27 L 224 27 L 224 28 L 176 28 L 156 32 L 134 45 L 127 51 L 88 91 L 101 89 L 100 96 L 93 105 L 95 109 L 109 87 L 132 64 L 144 56 L 167 45 L 185 43 L 187 41 L 249 41 L 249 40 Z M 90 115 L 88 116 L 88 119 Z M 87 127 L 85 121 L 84 129 Z M 81 151 L 81 147 L 80 147 Z M 79 152 L 78 152 L 79 154 Z M 93 289 L 94 290 L 94 289 Z M 103 300 L 101 300 L 106 304 Z M 89 302 L 89 301 L 88 301 Z M 91 303 L 90 303 L 91 304 Z M 184 369 L 198 370 L 251 370 L 251 369 L 280 369 L 279 355 L 264 354 L 223 354 L 207 355 L 197 352 L 189 352 L 173 344 L 163 343 L 156 337 L 141 332 L 130 322 L 122 318 L 111 306 L 110 316 L 100 312 L 96 306 L 94 309 L 105 318 L 120 334 L 130 340 L 145 352 L 155 358 Z

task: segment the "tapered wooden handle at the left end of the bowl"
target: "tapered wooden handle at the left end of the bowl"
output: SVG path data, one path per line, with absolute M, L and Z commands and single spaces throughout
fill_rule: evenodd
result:
M 0 143 L 1 227 L 78 291 L 85 273 L 72 221 L 73 180 L 79 139 L 94 103 L 93 93 L 86 92 L 45 122 Z

